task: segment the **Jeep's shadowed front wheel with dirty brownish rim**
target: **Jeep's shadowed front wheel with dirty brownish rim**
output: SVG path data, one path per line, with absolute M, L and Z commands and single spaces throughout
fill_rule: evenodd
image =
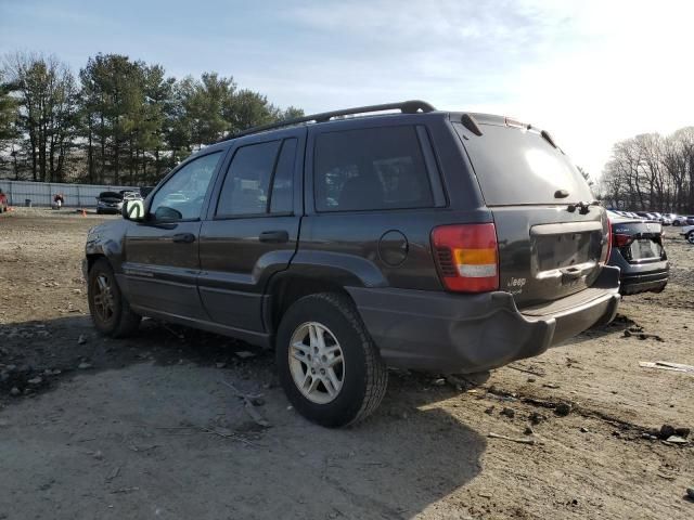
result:
M 91 266 L 87 290 L 89 312 L 97 330 L 112 338 L 124 338 L 138 329 L 142 316 L 130 310 L 105 258 L 100 258 Z

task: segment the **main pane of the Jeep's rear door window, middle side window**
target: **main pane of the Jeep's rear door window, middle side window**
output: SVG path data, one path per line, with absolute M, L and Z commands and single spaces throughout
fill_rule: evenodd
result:
M 280 141 L 250 144 L 236 151 L 221 187 L 218 216 L 265 213 Z

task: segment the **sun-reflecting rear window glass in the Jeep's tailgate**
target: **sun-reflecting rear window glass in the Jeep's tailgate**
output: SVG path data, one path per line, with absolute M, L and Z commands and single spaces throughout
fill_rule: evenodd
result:
M 538 132 L 481 125 L 483 135 L 453 123 L 467 150 L 488 206 L 562 204 L 594 197 L 567 156 Z M 568 197 L 556 198 L 557 190 Z

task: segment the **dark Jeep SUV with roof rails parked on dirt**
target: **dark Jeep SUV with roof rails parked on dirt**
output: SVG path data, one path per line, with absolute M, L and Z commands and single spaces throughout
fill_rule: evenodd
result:
M 424 102 L 243 132 L 124 216 L 87 238 L 97 329 L 153 316 L 274 347 L 290 401 L 329 427 L 377 407 L 387 365 L 499 367 L 620 298 L 605 210 L 552 138 Z

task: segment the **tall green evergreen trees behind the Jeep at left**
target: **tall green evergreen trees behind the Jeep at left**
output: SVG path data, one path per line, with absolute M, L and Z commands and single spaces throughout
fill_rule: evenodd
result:
M 176 79 L 97 54 L 75 75 L 53 55 L 17 52 L 0 68 L 0 179 L 154 184 L 205 144 L 303 114 L 213 72 Z

